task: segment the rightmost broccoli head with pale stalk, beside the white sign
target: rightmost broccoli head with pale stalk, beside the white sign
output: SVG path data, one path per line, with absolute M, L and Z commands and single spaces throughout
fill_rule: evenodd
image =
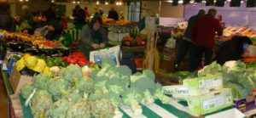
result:
M 164 93 L 161 93 L 162 86 L 159 83 L 154 84 L 154 87 L 151 87 L 149 91 L 154 96 L 154 99 L 160 99 L 163 104 L 167 104 L 171 100 Z

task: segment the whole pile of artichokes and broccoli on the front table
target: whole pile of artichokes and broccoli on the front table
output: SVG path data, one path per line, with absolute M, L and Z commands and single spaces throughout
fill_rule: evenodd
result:
M 146 104 L 155 99 L 164 104 L 170 101 L 161 93 L 161 85 L 154 82 L 151 70 L 131 75 L 128 66 L 113 64 L 113 61 L 102 60 L 101 70 L 87 67 L 90 76 L 84 76 L 79 65 L 61 68 L 53 77 L 41 73 L 21 88 L 21 95 L 26 98 L 26 105 L 32 103 L 33 117 L 119 118 L 123 115 L 119 104 L 130 106 L 133 115 L 141 115 L 143 101 Z

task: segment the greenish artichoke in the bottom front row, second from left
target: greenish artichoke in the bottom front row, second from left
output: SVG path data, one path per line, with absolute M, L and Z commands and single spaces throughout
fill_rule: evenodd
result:
M 54 118 L 64 118 L 66 116 L 66 112 L 71 107 L 73 103 L 67 101 L 65 98 L 61 98 L 56 101 L 52 107 L 49 109 L 49 115 Z

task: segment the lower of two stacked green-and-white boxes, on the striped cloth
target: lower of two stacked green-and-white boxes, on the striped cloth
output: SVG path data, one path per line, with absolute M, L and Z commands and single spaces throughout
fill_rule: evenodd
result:
M 233 105 L 230 88 L 222 88 L 204 95 L 188 97 L 189 109 L 196 114 L 205 115 Z

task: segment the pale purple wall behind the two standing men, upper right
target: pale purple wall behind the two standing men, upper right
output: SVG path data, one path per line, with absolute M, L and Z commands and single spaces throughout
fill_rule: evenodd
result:
M 195 6 L 187 4 L 185 5 L 184 18 L 185 20 L 189 20 L 201 8 L 205 10 L 216 8 L 218 14 L 223 16 L 226 25 L 248 25 L 248 27 L 256 29 L 256 8 L 246 8 L 246 4 L 241 3 L 240 7 L 230 7 L 230 3 L 225 3 L 224 7 L 206 7 L 202 3 L 196 3 Z

